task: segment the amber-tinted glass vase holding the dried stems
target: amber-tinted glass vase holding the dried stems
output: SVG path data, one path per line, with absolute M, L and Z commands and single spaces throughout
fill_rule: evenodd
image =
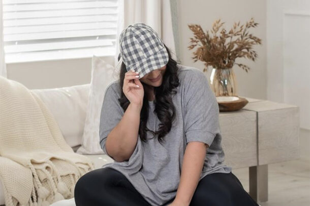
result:
M 216 97 L 237 96 L 236 80 L 233 68 L 212 68 L 210 85 Z

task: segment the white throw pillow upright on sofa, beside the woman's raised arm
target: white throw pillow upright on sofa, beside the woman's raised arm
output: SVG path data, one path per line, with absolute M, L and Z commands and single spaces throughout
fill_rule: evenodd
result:
M 91 81 L 86 110 L 86 119 L 79 154 L 104 154 L 100 147 L 99 125 L 103 98 L 107 86 L 119 76 L 114 66 L 95 55 L 92 56 Z

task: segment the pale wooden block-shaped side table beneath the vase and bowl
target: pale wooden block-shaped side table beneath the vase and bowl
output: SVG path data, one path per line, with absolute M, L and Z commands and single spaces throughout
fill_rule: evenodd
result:
M 250 195 L 268 200 L 268 164 L 300 158 L 299 107 L 243 97 L 238 111 L 220 112 L 225 163 L 249 168 Z

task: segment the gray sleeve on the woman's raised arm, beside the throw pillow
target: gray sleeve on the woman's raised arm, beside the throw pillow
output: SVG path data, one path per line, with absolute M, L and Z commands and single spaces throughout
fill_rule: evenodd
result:
M 106 150 L 107 136 L 118 124 L 118 122 L 121 120 L 124 114 L 122 107 L 119 105 L 117 92 L 119 91 L 117 91 L 117 89 L 112 87 L 112 85 L 108 86 L 103 98 L 100 113 L 100 126 L 99 126 L 100 146 L 105 154 L 107 154 Z M 111 157 L 110 155 L 108 156 Z

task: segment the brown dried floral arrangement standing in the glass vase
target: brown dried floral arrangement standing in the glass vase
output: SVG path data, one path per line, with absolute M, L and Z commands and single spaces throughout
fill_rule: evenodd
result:
M 194 37 L 191 37 L 191 45 L 188 47 L 190 50 L 198 47 L 193 52 L 194 62 L 200 60 L 205 62 L 203 71 L 207 71 L 208 66 L 213 68 L 223 69 L 232 68 L 234 64 L 241 67 L 246 72 L 250 67 L 244 64 L 235 63 L 236 58 L 246 57 L 253 61 L 257 58 L 257 53 L 253 50 L 253 45 L 261 45 L 261 39 L 249 34 L 248 29 L 256 27 L 258 23 L 254 22 L 251 18 L 245 25 L 234 23 L 233 27 L 227 33 L 223 26 L 225 22 L 221 19 L 216 20 L 212 29 L 203 31 L 200 25 L 190 24 L 189 28 L 194 32 Z M 220 34 L 218 31 L 221 29 Z

